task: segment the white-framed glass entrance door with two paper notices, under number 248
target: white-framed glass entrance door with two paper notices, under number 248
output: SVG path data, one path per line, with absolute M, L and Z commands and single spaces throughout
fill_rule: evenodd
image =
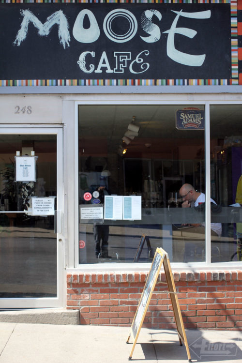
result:
M 0 308 L 63 305 L 62 129 L 0 129 Z

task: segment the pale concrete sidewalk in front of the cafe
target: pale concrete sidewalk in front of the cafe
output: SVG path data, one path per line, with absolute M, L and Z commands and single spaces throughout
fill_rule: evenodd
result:
M 0 323 L 0 363 L 123 363 L 130 328 Z M 186 330 L 192 362 L 242 362 L 242 332 Z M 135 363 L 188 362 L 176 330 L 141 328 Z

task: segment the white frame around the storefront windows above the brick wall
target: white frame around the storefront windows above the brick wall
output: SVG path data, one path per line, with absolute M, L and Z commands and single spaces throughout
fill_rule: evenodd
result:
M 128 94 L 129 101 L 127 101 L 127 96 L 125 95 L 115 95 L 110 94 L 110 97 L 105 97 L 105 95 L 89 95 L 87 100 L 80 100 L 76 97 L 75 100 L 75 117 L 74 117 L 74 149 L 75 149 L 75 158 L 74 158 L 74 193 L 75 193 L 75 205 L 74 205 L 74 268 L 81 269 L 81 271 L 89 272 L 89 271 L 147 271 L 150 269 L 150 263 L 105 263 L 105 264 L 79 264 L 78 261 L 78 226 L 79 226 L 79 211 L 78 211 L 78 106 L 89 106 L 89 105 L 201 105 L 204 106 L 205 110 L 205 134 L 204 134 L 204 146 L 205 146 L 205 195 L 206 195 L 206 209 L 205 209 L 205 223 L 206 223 L 206 231 L 205 231 L 205 244 L 206 244 L 206 257 L 204 262 L 172 262 L 171 266 L 175 270 L 187 270 L 188 266 L 191 269 L 196 270 L 211 270 L 211 269 L 241 269 L 242 262 L 240 261 L 228 261 L 228 262 L 211 262 L 211 233 L 210 225 L 211 220 L 211 211 L 208 206 L 210 206 L 210 184 L 211 184 L 211 175 L 210 175 L 210 106 L 212 105 L 242 105 L 242 101 L 234 101 L 229 94 L 230 100 L 225 100 L 224 95 L 217 93 L 216 95 L 212 95 L 214 100 L 208 101 L 209 96 L 207 94 L 171 94 L 170 97 L 165 95 L 155 95 L 154 100 L 147 100 L 146 94 Z M 160 98 L 159 100 L 157 100 Z M 160 96 L 160 97 L 159 97 Z M 108 99 L 109 98 L 109 99 Z M 121 98 L 121 99 L 120 99 Z M 164 99 L 163 99 L 164 98 Z M 173 99 L 171 101 L 171 98 Z M 238 96 L 237 96 L 238 99 Z

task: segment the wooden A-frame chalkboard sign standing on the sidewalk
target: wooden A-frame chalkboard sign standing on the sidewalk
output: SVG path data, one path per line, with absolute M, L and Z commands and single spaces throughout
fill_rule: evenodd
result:
M 152 261 L 152 265 L 151 265 L 151 270 L 147 277 L 145 287 L 143 289 L 143 292 L 142 292 L 142 295 L 141 295 L 141 298 L 140 298 L 140 301 L 139 301 L 139 304 L 138 304 L 138 307 L 136 310 L 136 314 L 135 314 L 133 323 L 130 328 L 130 333 L 129 333 L 129 336 L 126 341 L 126 343 L 129 343 L 130 337 L 132 337 L 134 340 L 133 347 L 130 352 L 129 360 L 132 359 L 136 341 L 138 339 L 140 329 L 142 327 L 149 303 L 151 301 L 151 295 L 154 290 L 157 278 L 159 276 L 159 272 L 160 272 L 162 264 L 163 264 L 164 271 L 166 274 L 166 283 L 167 283 L 167 287 L 168 287 L 168 293 L 170 294 L 170 300 L 171 300 L 174 317 L 175 317 L 175 321 L 176 321 L 176 325 L 177 325 L 177 332 L 178 332 L 178 336 L 179 336 L 180 345 L 182 345 L 182 342 L 184 343 L 184 345 L 186 347 L 188 360 L 189 360 L 189 362 L 192 362 L 191 356 L 190 356 L 190 351 L 189 351 L 188 344 L 187 344 L 186 333 L 184 330 L 184 325 L 183 325 L 183 321 L 182 321 L 182 317 L 181 317 L 181 309 L 180 309 L 180 305 L 178 302 L 173 274 L 171 272 L 169 257 L 168 257 L 168 254 L 166 253 L 166 251 L 164 251 L 162 248 L 156 248 L 155 255 L 154 255 L 154 258 Z

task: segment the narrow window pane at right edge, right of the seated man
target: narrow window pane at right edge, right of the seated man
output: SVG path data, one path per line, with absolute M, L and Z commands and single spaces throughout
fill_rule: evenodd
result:
M 210 108 L 211 223 L 221 223 L 221 237 L 211 236 L 212 261 L 242 260 L 242 106 Z M 212 227 L 212 224 L 211 224 Z

